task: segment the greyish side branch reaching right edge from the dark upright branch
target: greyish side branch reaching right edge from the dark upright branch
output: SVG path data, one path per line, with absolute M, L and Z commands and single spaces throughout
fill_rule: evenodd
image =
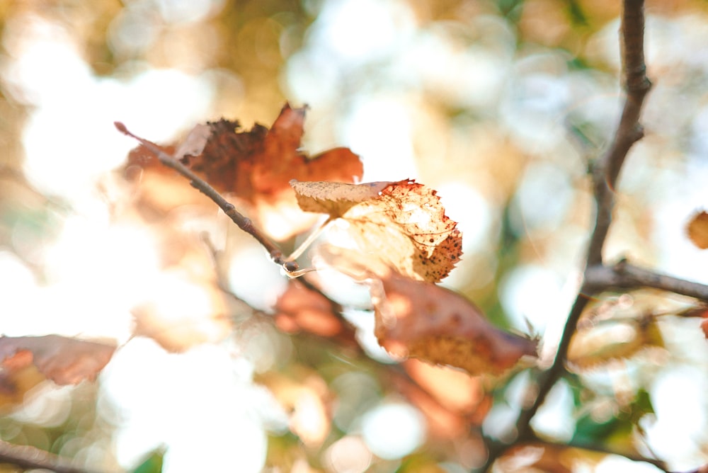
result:
M 614 266 L 590 266 L 586 270 L 585 277 L 588 287 L 592 287 L 593 292 L 612 288 L 653 287 L 708 302 L 708 285 L 692 283 L 632 266 L 626 260 L 619 261 Z

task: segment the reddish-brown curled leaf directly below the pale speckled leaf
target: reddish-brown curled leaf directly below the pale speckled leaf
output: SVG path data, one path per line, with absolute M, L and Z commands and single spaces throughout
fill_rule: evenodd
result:
M 431 283 L 391 273 L 372 286 L 375 334 L 397 356 L 450 365 L 471 375 L 498 375 L 524 355 L 536 355 L 536 342 L 493 326 L 464 297 Z

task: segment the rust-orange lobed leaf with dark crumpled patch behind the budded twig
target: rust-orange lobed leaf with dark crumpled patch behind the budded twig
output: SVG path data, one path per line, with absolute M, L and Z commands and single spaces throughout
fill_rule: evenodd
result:
M 329 149 L 312 158 L 299 151 L 305 111 L 286 103 L 270 130 L 256 123 L 246 131 L 239 122 L 223 119 L 197 125 L 173 147 L 175 156 L 219 192 L 241 199 L 273 238 L 290 238 L 316 221 L 299 210 L 288 184 L 291 179 L 351 183 L 363 173 L 359 156 L 348 148 Z M 142 167 L 156 161 L 144 147 L 129 157 L 129 164 Z

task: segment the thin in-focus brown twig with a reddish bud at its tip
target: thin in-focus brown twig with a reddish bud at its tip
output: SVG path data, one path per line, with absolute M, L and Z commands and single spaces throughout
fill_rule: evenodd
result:
M 137 141 L 139 141 L 144 147 L 147 147 L 147 149 L 156 154 L 157 159 L 159 159 L 161 164 L 171 169 L 174 169 L 185 178 L 188 178 L 189 183 L 192 185 L 193 188 L 196 188 L 202 194 L 206 195 L 208 198 L 213 200 L 214 203 L 218 205 L 219 208 L 223 210 L 224 213 L 228 215 L 229 218 L 231 218 L 231 220 L 236 225 L 238 225 L 241 230 L 253 236 L 253 238 L 255 238 L 256 241 L 258 241 L 258 243 L 260 243 L 263 248 L 268 251 L 270 258 L 276 264 L 282 266 L 282 268 L 284 268 L 287 273 L 297 271 L 297 263 L 295 261 L 288 261 L 283 256 L 282 251 L 280 251 L 278 245 L 276 245 L 270 238 L 268 238 L 268 236 L 261 232 L 261 230 L 253 224 L 251 219 L 245 217 L 244 215 L 241 215 L 241 213 L 236 210 L 236 207 L 234 207 L 232 203 L 229 203 L 228 200 L 224 199 L 224 197 L 219 194 L 215 188 L 210 186 L 202 178 L 193 173 L 187 166 L 182 164 L 174 156 L 170 156 L 169 154 L 164 152 L 162 149 L 160 149 L 160 147 L 156 146 L 156 144 L 149 142 L 147 139 L 133 135 L 121 122 L 114 122 L 113 124 L 123 135 L 127 135 L 129 137 L 137 139 Z

